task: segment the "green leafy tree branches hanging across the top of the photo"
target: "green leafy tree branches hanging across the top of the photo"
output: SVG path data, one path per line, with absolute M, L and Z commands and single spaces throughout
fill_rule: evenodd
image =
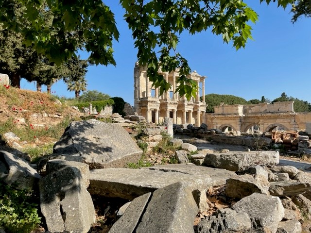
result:
M 59 65 L 79 50 L 86 50 L 91 64 L 116 64 L 112 46 L 118 41 L 119 32 L 113 12 L 102 0 L 16 2 L 21 13 L 17 13 L 12 0 L 0 1 L 1 26 L 20 33 L 25 46 L 32 46 L 50 62 Z M 250 22 L 258 20 L 258 15 L 241 0 L 120 0 L 120 3 L 125 10 L 124 19 L 133 32 L 138 62 L 148 67 L 147 75 L 154 86 L 160 87 L 160 94 L 168 90 L 170 84 L 158 70 L 179 68 L 181 75 L 176 91 L 188 99 L 195 96 L 198 86 L 187 78 L 188 61 L 177 50 L 180 33 L 195 34 L 211 29 L 212 33 L 222 35 L 225 43 L 232 41 L 238 50 L 252 38 Z M 277 0 L 277 5 L 283 8 L 293 4 L 293 11 L 300 3 L 304 4 L 303 0 L 294 3 Z

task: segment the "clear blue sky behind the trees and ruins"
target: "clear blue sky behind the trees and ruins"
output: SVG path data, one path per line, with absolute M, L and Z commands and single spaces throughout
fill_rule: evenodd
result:
M 119 43 L 114 44 L 117 66 L 90 66 L 86 74 L 87 90 L 97 90 L 111 97 L 134 103 L 134 65 L 137 50 L 123 9 L 117 0 L 105 0 L 115 13 Z M 189 61 L 192 70 L 207 76 L 205 93 L 229 94 L 246 100 L 261 96 L 274 100 L 285 92 L 311 102 L 311 18 L 292 24 L 290 8 L 269 6 L 259 0 L 245 0 L 258 14 L 253 38 L 245 49 L 236 51 L 224 44 L 221 36 L 210 31 L 182 33 L 177 50 Z M 83 54 L 82 54 L 82 58 Z M 35 83 L 21 82 L 22 89 L 35 90 Z M 43 90 L 45 87 L 43 87 Z M 58 96 L 74 97 L 63 81 L 52 86 Z

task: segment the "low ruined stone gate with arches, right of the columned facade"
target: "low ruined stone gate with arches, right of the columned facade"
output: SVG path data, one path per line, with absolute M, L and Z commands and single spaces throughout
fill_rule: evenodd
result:
M 294 101 L 259 103 L 250 105 L 219 105 L 215 113 L 206 114 L 208 128 L 222 132 L 269 132 L 273 130 L 297 131 L 306 128 L 311 113 L 295 113 Z

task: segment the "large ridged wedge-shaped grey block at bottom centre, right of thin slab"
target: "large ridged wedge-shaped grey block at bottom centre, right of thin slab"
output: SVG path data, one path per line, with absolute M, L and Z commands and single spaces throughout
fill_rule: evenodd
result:
M 173 183 L 153 193 L 136 233 L 191 233 L 197 213 L 190 189 Z

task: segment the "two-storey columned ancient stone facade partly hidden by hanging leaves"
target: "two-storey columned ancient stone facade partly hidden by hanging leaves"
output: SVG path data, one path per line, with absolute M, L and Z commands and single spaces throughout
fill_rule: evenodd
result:
M 164 117 L 173 118 L 174 124 L 190 123 L 200 126 L 205 122 L 205 76 L 193 71 L 189 78 L 197 82 L 199 91 L 189 101 L 175 93 L 178 70 L 171 73 L 159 72 L 170 83 L 171 89 L 159 96 L 158 88 L 152 87 L 147 71 L 138 64 L 134 68 L 134 110 L 144 116 L 148 122 L 162 123 Z M 202 101 L 200 101 L 202 96 Z

